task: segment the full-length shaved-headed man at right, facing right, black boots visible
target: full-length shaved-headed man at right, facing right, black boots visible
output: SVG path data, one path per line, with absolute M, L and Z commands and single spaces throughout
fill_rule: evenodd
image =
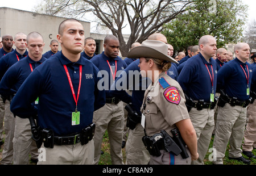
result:
M 216 149 L 213 164 L 223 164 L 228 142 L 229 159 L 250 164 L 250 160 L 242 156 L 241 150 L 246 107 L 250 103 L 252 69 L 247 62 L 250 57 L 250 47 L 247 43 L 238 43 L 234 46 L 234 53 L 236 58 L 218 70 L 217 91 L 220 91 L 221 95 L 218 100 L 218 116 L 213 141 L 213 148 Z

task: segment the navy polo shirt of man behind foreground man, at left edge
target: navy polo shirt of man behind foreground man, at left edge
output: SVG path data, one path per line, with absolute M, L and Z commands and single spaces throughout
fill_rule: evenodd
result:
M 42 57 L 38 62 L 32 60 L 29 56 L 24 59 L 16 62 L 11 66 L 5 76 L 3 76 L 0 82 L 0 94 L 4 96 L 9 96 L 15 94 L 18 91 L 19 87 L 25 81 L 25 79 L 30 75 L 31 68 L 34 70 L 37 66 L 46 61 L 46 58 Z

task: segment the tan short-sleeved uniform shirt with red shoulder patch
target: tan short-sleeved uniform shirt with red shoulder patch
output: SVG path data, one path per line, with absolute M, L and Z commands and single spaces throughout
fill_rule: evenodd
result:
M 154 85 L 145 91 L 143 104 L 141 110 L 145 116 L 147 136 L 159 133 L 162 129 L 172 136 L 171 130 L 176 127 L 175 123 L 189 119 L 183 90 L 177 81 L 165 73 L 161 73 Z

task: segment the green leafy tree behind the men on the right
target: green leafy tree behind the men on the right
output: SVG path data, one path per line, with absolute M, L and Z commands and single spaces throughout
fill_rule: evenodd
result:
M 195 0 L 187 11 L 165 24 L 162 33 L 175 51 L 197 45 L 203 35 L 214 36 L 217 47 L 224 47 L 241 40 L 247 8 L 241 0 Z

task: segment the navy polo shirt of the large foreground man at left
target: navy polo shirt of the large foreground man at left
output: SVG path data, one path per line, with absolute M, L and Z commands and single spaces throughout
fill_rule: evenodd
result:
M 77 102 L 80 124 L 77 125 L 72 125 L 72 112 L 76 110 L 76 103 L 64 65 L 67 66 L 76 97 L 79 68 L 82 65 L 81 90 Z M 93 112 L 105 104 L 105 92 L 97 89 L 100 80 L 98 72 L 96 66 L 84 57 L 71 62 L 62 52 L 58 52 L 27 77 L 14 96 L 10 109 L 21 118 L 38 114 L 39 126 L 52 129 L 55 136 L 80 133 L 82 128 L 92 123 Z M 38 97 L 36 111 L 31 103 Z

